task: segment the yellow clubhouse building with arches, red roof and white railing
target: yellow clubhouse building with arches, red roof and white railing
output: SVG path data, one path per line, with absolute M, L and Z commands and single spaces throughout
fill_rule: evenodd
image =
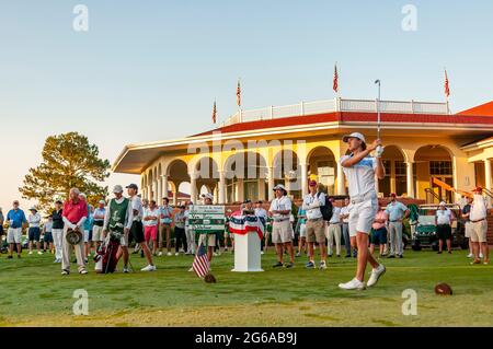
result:
M 214 130 L 126 146 L 113 171 L 140 175 L 142 197 L 158 202 L 169 193 L 177 203 L 185 183 L 192 201 L 209 191 L 217 203 L 270 200 L 279 183 L 298 199 L 309 178 L 330 195 L 346 195 L 342 136 L 359 131 L 371 142 L 378 114 L 387 170 L 381 197 L 455 202 L 474 186 L 490 193 L 493 102 L 457 114 L 448 103 L 340 97 L 240 110 Z

